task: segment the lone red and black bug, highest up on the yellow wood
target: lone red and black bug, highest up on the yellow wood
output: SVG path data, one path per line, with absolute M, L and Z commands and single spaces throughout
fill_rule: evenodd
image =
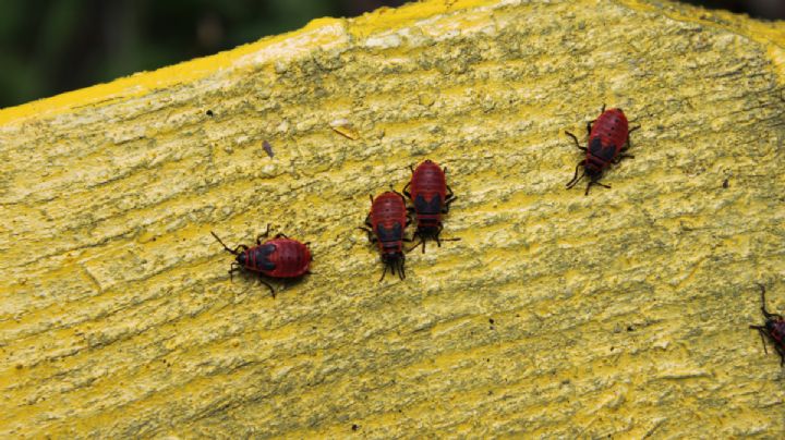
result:
M 636 126 L 629 129 L 627 117 L 621 109 L 605 110 L 603 106 L 600 117 L 594 121 L 587 123 L 587 132 L 589 133 L 589 147 L 581 147 L 578 137 L 570 132 L 565 132 L 572 137 L 578 149 L 585 151 L 585 159 L 578 162 L 572 180 L 567 183 L 567 187 L 575 186 L 584 175 L 589 176 L 589 185 L 587 185 L 585 195 L 592 185 L 600 185 L 606 188 L 611 186 L 600 182 L 603 172 L 611 163 L 618 163 L 621 159 L 633 158 L 631 155 L 625 155 L 630 146 L 629 134 L 640 129 Z M 583 167 L 583 173 L 578 176 L 578 169 Z

